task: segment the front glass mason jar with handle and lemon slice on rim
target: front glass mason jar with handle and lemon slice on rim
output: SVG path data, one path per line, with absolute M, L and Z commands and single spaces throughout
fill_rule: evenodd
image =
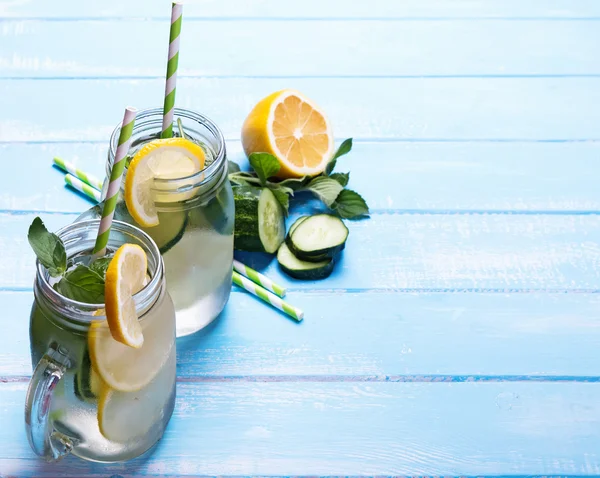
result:
M 69 259 L 91 253 L 98 226 L 84 221 L 58 231 Z M 148 257 L 149 282 L 134 296 L 140 349 L 112 338 L 104 304 L 60 295 L 37 264 L 25 425 L 31 447 L 48 461 L 68 453 L 103 462 L 135 458 L 161 438 L 173 413 L 175 310 L 163 261 L 147 234 L 114 221 L 108 250 L 124 243 L 138 244 Z

